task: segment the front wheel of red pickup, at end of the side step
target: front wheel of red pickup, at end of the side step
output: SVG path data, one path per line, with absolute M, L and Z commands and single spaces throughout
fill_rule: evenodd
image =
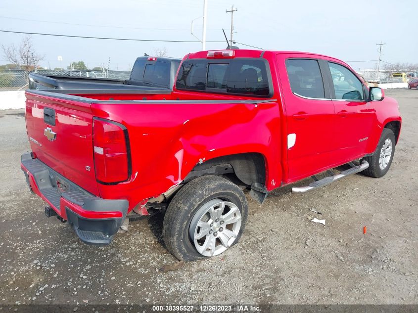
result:
M 384 128 L 373 155 L 363 158 L 363 160 L 369 162 L 369 168 L 362 172 L 364 175 L 374 178 L 380 178 L 386 175 L 387 171 L 389 171 L 390 165 L 392 164 L 393 155 L 395 154 L 395 140 L 395 134 L 393 134 L 390 129 Z M 384 148 L 383 146 L 389 141 L 391 145 L 390 158 L 384 158 L 384 160 L 381 160 L 382 148 Z M 387 147 L 385 148 L 385 152 L 386 155 L 389 153 Z M 383 166 L 384 168 L 382 168 Z

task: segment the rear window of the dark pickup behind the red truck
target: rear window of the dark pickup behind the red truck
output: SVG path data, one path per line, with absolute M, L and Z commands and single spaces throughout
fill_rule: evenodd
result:
M 170 63 L 137 60 L 132 69 L 131 80 L 139 82 L 148 82 L 152 84 L 169 84 Z

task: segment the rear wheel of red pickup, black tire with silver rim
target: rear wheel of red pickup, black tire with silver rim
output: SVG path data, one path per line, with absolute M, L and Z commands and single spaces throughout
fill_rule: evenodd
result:
M 188 182 L 170 202 L 163 222 L 163 240 L 168 251 L 181 261 L 205 259 L 236 244 L 247 217 L 247 199 L 237 185 L 222 177 L 202 176 Z M 203 233 L 206 235 L 201 239 L 193 240 L 193 236 Z M 205 243 L 213 241 L 203 254 L 198 252 L 196 244 L 203 250 Z

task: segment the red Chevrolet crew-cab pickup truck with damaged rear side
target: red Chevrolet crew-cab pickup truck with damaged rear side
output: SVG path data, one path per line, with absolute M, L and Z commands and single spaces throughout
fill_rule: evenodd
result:
M 311 176 L 292 191 L 359 172 L 384 176 L 401 129 L 383 90 L 340 60 L 305 52 L 200 51 L 183 58 L 173 90 L 27 90 L 26 98 L 32 152 L 21 168 L 46 216 L 104 245 L 129 218 L 163 211 L 166 247 L 185 261 L 239 240 L 245 189 L 262 203 Z

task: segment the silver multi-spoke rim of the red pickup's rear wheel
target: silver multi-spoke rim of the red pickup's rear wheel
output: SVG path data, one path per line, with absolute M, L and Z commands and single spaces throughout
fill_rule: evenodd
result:
M 241 212 L 229 201 L 213 199 L 194 214 L 189 235 L 197 252 L 205 257 L 221 254 L 235 241 L 241 229 Z

